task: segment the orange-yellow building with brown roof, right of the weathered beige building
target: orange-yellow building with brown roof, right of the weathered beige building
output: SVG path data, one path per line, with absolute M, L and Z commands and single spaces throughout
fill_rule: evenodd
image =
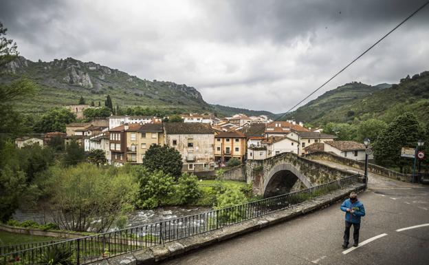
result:
M 221 131 L 214 136 L 214 160 L 220 165 L 225 165 L 231 158 L 243 162 L 246 149 L 246 136 L 240 131 Z

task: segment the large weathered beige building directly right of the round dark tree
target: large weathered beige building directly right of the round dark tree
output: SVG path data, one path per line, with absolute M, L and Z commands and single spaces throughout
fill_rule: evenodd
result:
M 179 151 L 182 171 L 198 173 L 214 170 L 214 131 L 203 123 L 165 123 L 166 145 Z

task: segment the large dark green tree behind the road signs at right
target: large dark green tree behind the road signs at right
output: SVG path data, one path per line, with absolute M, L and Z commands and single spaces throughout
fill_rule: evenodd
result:
M 404 167 L 410 169 L 412 160 L 401 158 L 401 148 L 415 147 L 422 136 L 423 129 L 414 114 L 406 112 L 397 116 L 374 142 L 375 162 L 386 167 L 399 167 L 401 172 Z

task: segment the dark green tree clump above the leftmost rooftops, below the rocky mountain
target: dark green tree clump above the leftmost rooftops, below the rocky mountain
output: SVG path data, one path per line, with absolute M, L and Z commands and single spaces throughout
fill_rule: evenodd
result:
M 65 132 L 65 125 L 74 122 L 74 120 L 76 120 L 75 114 L 69 112 L 68 109 L 56 107 L 43 114 L 39 122 L 34 125 L 34 130 L 44 133 L 50 131 Z

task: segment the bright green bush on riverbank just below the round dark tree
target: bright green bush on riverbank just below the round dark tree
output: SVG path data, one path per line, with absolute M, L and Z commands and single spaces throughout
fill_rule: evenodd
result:
M 137 167 L 135 176 L 140 182 L 140 206 L 153 209 L 161 205 L 167 196 L 173 195 L 174 179 L 160 170 L 150 171 L 145 167 Z

